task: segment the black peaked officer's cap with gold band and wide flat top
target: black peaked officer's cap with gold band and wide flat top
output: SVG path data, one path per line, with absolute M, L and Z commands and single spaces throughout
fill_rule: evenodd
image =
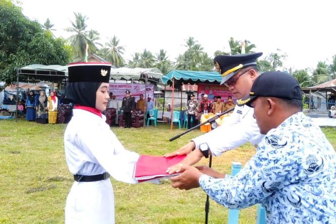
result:
M 257 66 L 257 58 L 263 53 L 240 54 L 240 55 L 219 55 L 214 58 L 216 70 L 222 75 L 221 84 L 229 80 L 242 68 Z

